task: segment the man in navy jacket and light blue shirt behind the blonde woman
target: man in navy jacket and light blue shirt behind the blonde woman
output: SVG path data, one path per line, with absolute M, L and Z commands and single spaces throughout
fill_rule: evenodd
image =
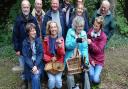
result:
M 42 36 L 46 36 L 46 24 L 49 20 L 55 21 L 59 27 L 58 36 L 65 38 L 65 21 L 64 14 L 59 10 L 59 0 L 51 0 L 51 9 L 48 10 L 44 16 Z

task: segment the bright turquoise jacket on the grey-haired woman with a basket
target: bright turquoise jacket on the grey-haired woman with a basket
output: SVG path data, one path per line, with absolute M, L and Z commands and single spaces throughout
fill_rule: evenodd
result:
M 79 37 L 87 39 L 86 32 L 82 30 L 81 33 L 79 34 Z M 69 58 L 71 58 L 73 56 L 75 48 L 78 48 L 81 56 L 86 57 L 85 63 L 87 63 L 87 64 L 89 63 L 88 43 L 87 43 L 87 41 L 84 41 L 82 43 L 77 43 L 75 30 L 72 28 L 69 29 L 67 32 L 65 47 L 66 47 L 66 54 L 65 54 L 65 59 L 64 59 L 65 65 L 66 65 L 67 60 L 69 60 Z

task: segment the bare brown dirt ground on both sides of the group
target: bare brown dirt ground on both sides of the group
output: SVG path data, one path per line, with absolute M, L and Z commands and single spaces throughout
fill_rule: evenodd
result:
M 0 60 L 0 89 L 20 89 L 19 74 L 11 71 L 15 64 Z M 128 46 L 106 50 L 100 89 L 128 89 Z

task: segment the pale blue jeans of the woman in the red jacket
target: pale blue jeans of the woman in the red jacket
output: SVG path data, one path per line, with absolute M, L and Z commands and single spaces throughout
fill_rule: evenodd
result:
M 48 74 L 48 88 L 53 89 L 53 88 L 61 88 L 62 87 L 62 72 L 58 74 Z

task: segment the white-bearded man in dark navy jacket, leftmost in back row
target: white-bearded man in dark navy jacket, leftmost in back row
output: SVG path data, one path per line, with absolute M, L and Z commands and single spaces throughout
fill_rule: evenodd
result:
M 30 14 L 30 2 L 28 0 L 23 0 L 21 2 L 21 10 L 22 13 L 21 15 L 17 16 L 13 27 L 12 40 L 16 55 L 19 57 L 20 67 L 24 68 L 24 59 L 22 56 L 22 42 L 27 37 L 26 24 L 31 22 L 36 25 L 36 32 L 38 37 L 40 36 L 40 32 L 36 19 Z M 22 80 L 24 81 L 24 87 L 26 88 L 27 82 L 24 73 L 22 73 Z

